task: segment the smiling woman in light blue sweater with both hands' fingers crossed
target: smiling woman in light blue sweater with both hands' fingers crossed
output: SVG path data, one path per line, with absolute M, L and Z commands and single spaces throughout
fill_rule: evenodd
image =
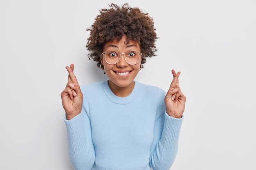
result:
M 76 170 L 168 170 L 178 148 L 186 97 L 173 73 L 168 92 L 134 81 L 155 56 L 153 18 L 128 4 L 101 9 L 86 45 L 109 80 L 79 86 L 74 65 L 61 93 L 67 151 Z

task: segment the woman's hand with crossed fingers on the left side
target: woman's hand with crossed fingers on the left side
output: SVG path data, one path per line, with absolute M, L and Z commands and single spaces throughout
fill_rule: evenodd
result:
M 66 111 L 67 120 L 71 120 L 82 111 L 83 94 L 74 75 L 74 64 L 70 68 L 66 66 L 69 73 L 66 88 L 61 92 L 62 106 Z M 72 87 L 72 84 L 74 87 Z

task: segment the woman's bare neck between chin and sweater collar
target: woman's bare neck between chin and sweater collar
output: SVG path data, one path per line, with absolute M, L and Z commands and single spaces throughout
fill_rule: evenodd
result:
M 118 97 L 126 97 L 128 96 L 131 92 L 132 89 L 135 85 L 135 82 L 132 81 L 132 83 L 130 83 L 130 85 L 126 86 L 126 87 L 120 87 L 118 85 L 116 85 L 115 83 L 113 83 L 111 80 L 108 81 L 108 85 L 111 89 L 111 91 Z

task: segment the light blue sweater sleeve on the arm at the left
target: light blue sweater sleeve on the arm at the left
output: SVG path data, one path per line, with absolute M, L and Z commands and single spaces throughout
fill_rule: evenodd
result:
M 84 103 L 88 101 L 85 100 L 86 97 L 83 99 L 83 107 L 79 115 L 71 120 L 67 120 L 64 115 L 67 127 L 67 153 L 74 170 L 91 170 L 95 161 L 90 116 L 84 108 Z

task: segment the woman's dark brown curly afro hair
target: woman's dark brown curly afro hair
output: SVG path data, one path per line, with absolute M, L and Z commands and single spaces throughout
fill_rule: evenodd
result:
M 127 44 L 133 40 L 141 46 L 141 65 L 146 63 L 147 57 L 156 56 L 155 41 L 159 37 L 155 33 L 153 17 L 142 13 L 137 7 L 131 8 L 128 3 L 121 7 L 113 3 L 108 5 L 112 8 L 99 10 L 100 14 L 95 18 L 94 24 L 86 29 L 91 31 L 86 44 L 88 58 L 97 61 L 97 67 L 100 68 L 104 43 L 113 39 L 120 40 L 123 34 L 126 34 Z

